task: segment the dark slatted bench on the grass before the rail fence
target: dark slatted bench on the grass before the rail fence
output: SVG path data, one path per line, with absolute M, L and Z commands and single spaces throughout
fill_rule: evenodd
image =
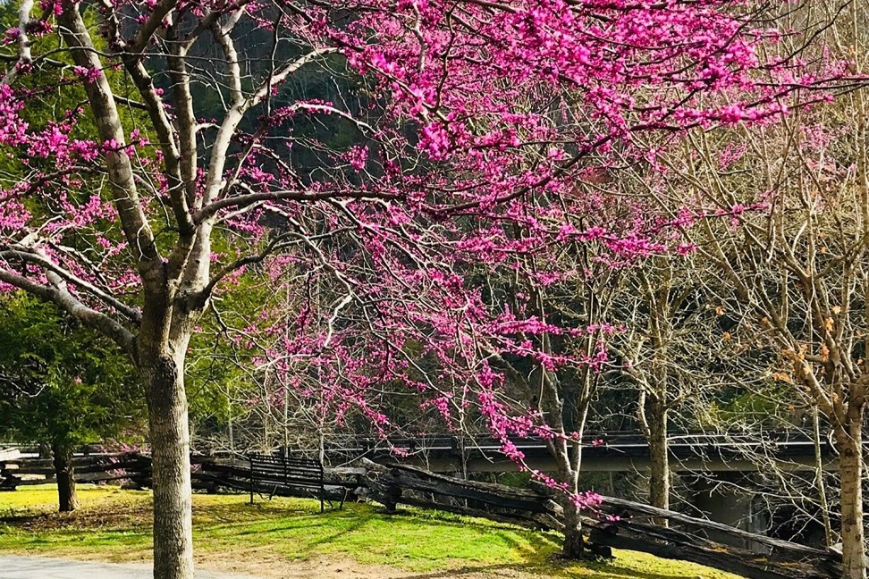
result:
M 320 512 L 324 510 L 325 486 L 323 463 L 309 458 L 280 457 L 274 455 L 248 455 L 250 465 L 250 504 L 255 492 L 268 490 L 274 495 L 298 496 L 314 491 L 320 499 Z M 343 502 L 343 501 L 342 501 Z

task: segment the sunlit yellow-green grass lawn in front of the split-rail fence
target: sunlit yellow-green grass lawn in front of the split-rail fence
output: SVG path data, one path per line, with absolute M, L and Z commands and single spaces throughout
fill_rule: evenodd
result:
M 149 492 L 82 485 L 79 497 L 79 511 L 61 514 L 52 485 L 0 492 L 0 553 L 148 560 Z M 193 529 L 200 563 L 251 575 L 286 576 L 270 571 L 333 558 L 381 569 L 357 576 L 394 570 L 407 577 L 454 571 L 440 576 L 738 579 L 633 551 L 616 551 L 609 563 L 566 564 L 554 557 L 555 533 L 417 509 L 386 516 L 372 504 L 346 504 L 340 511 L 327 505 L 321 515 L 319 502 L 310 499 L 257 498 L 250 506 L 245 495 L 197 494 Z

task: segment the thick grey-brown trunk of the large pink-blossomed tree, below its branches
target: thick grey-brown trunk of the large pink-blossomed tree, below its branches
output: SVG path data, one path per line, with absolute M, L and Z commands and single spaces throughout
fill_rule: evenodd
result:
M 190 427 L 183 352 L 141 362 L 154 469 L 154 579 L 193 579 Z

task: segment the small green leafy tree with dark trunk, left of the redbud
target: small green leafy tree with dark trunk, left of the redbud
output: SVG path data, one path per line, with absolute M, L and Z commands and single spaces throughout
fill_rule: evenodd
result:
M 56 306 L 0 300 L 0 435 L 51 448 L 61 511 L 78 507 L 73 449 L 141 424 L 139 384 L 111 346 Z

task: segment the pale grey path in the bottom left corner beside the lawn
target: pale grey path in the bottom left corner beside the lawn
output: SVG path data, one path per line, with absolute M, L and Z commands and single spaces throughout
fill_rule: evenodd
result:
M 201 572 L 197 579 L 255 579 Z M 151 579 L 148 565 L 115 565 L 19 555 L 0 556 L 0 579 Z

